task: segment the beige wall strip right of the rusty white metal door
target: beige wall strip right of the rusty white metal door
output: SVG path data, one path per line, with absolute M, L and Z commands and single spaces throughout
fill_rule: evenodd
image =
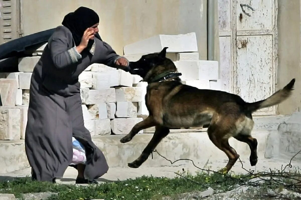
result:
M 301 110 L 300 0 L 278 0 L 278 89 L 296 78 L 293 96 L 279 105 L 280 114 Z

